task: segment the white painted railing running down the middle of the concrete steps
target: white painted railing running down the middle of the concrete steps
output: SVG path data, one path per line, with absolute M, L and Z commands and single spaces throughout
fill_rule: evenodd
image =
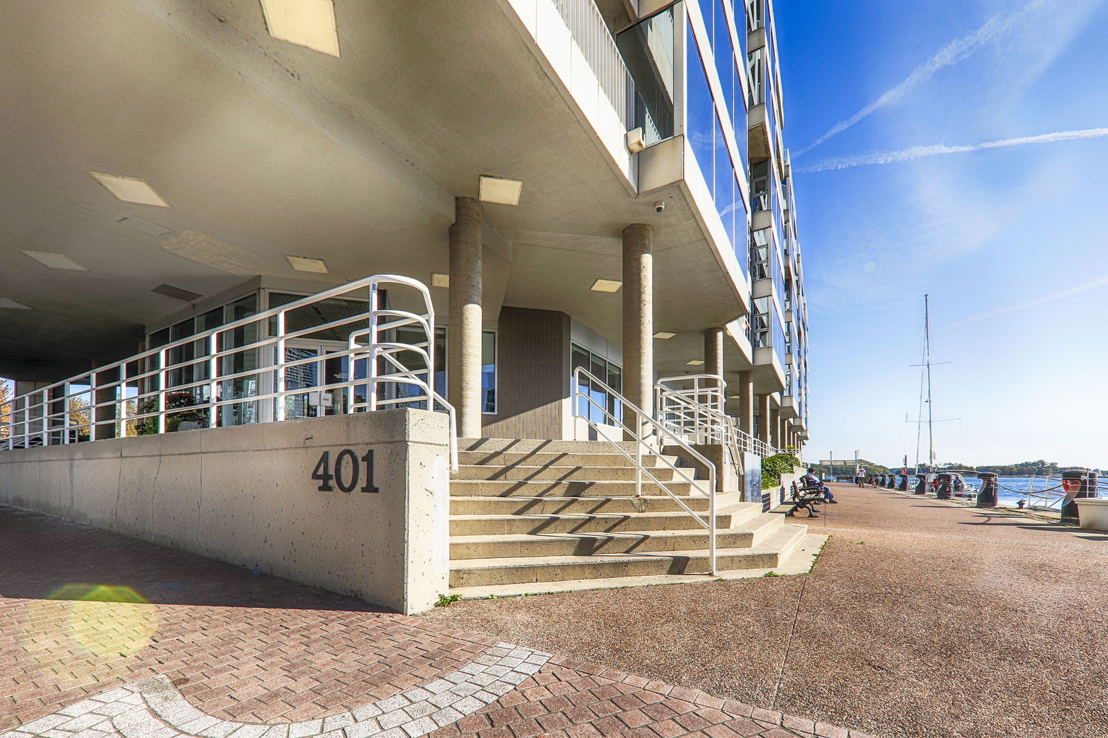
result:
M 614 402 L 611 404 L 607 401 L 601 402 L 589 390 L 601 390 L 602 396 L 606 400 L 613 399 Z M 591 375 L 584 367 L 578 367 L 573 372 L 572 402 L 574 418 L 581 419 L 587 423 L 588 427 L 596 433 L 597 439 L 612 443 L 616 451 L 622 453 L 635 465 L 636 496 L 643 496 L 643 476 L 649 476 L 650 480 L 658 485 L 658 489 L 673 498 L 677 504 L 685 510 L 685 512 L 693 515 L 693 517 L 695 517 L 702 527 L 708 530 L 709 574 L 715 574 L 717 571 L 716 464 L 708 461 L 704 454 L 689 445 L 687 441 L 674 434 L 668 428 L 655 420 L 650 413 L 644 411 L 638 406 L 619 394 L 619 392 L 616 392 L 614 389 L 608 387 L 604 383 L 604 381 Z M 584 411 L 582 403 L 584 403 Z M 615 407 L 618 407 L 618 412 L 613 411 L 613 408 Z M 594 410 L 589 410 L 587 408 L 595 408 L 599 411 L 599 413 L 596 413 Z M 598 423 L 593 420 L 593 417 L 597 414 L 598 417 L 604 418 L 603 423 Z M 628 416 L 630 416 L 630 418 L 628 418 Z M 620 438 L 611 438 L 609 433 L 613 432 L 613 430 L 618 432 Z M 620 441 L 624 439 L 629 439 L 635 444 L 634 454 L 628 452 L 620 444 Z M 674 461 L 663 455 L 660 449 L 655 445 L 661 443 L 671 443 L 680 447 L 687 454 L 689 454 L 689 457 L 696 459 L 704 465 L 707 470 L 708 479 L 696 479 L 695 472 L 691 475 L 689 474 L 689 472 L 693 471 L 691 469 L 678 467 Z M 656 454 L 659 463 L 663 464 L 664 468 L 671 469 L 678 481 L 688 482 L 690 489 L 695 493 L 708 498 L 707 517 L 685 504 L 685 501 L 681 500 L 680 495 L 673 492 L 666 482 L 659 480 L 654 473 L 655 468 L 646 467 L 643 463 L 644 450 L 647 453 Z

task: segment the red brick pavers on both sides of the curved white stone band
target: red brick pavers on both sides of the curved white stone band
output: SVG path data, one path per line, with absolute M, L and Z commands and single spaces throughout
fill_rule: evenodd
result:
M 126 694 L 124 685 L 158 675 L 213 718 L 291 728 L 347 710 L 357 715 L 356 708 L 449 677 L 488 658 L 497 642 L 0 508 L 0 730 L 90 697 Z M 587 660 L 541 660 L 516 688 L 430 735 L 863 738 Z M 352 728 L 325 735 L 368 738 Z M 406 735 L 391 730 L 379 735 Z M 151 735 L 178 734 L 163 727 Z

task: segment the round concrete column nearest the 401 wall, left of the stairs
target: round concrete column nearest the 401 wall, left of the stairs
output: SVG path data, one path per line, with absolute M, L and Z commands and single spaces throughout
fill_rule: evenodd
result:
M 458 434 L 481 437 L 481 203 L 454 198 L 450 226 L 450 328 L 447 388 Z

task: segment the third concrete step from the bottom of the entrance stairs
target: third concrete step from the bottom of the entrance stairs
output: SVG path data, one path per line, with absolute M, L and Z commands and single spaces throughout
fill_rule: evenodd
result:
M 717 514 L 716 525 L 728 529 L 732 516 Z M 451 515 L 450 535 L 511 535 L 540 533 L 605 533 L 629 531 L 687 531 L 702 530 L 696 517 L 684 510 L 664 513 L 618 514 L 511 514 L 511 515 Z

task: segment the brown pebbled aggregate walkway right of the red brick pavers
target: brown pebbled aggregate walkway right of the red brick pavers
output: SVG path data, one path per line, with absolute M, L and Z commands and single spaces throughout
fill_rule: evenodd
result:
M 889 737 L 1108 736 L 1108 534 L 833 485 L 809 575 L 427 619 Z

